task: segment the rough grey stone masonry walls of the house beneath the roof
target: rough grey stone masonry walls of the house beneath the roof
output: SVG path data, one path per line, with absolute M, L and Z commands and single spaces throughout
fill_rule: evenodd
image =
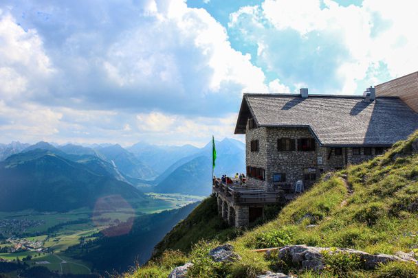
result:
M 295 140 L 296 150 L 278 151 L 278 139 L 289 138 Z M 353 148 L 327 148 L 320 146 L 315 140 L 315 150 L 300 151 L 297 148 L 297 139 L 314 138 L 309 128 L 279 128 L 260 127 L 248 128 L 245 132 L 246 165 L 259 167 L 265 171 L 265 180 L 248 177 L 248 184 L 262 187 L 269 191 L 274 186 L 288 184 L 294 185 L 303 181 L 305 188 L 314 184 L 322 173 L 340 170 L 349 164 L 360 163 L 372 159 L 377 148 L 370 148 L 371 154 L 364 154 L 365 148 L 360 148 L 360 154 L 353 154 Z M 259 141 L 259 150 L 252 152 L 251 141 Z M 274 174 L 285 174 L 285 181 L 274 182 Z M 309 175 L 307 175 L 309 174 Z M 309 176 L 309 179 L 307 179 Z

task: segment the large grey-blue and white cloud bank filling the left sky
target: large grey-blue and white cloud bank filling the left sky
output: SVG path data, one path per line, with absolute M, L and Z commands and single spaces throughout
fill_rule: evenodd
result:
M 206 10 L 180 0 L 95 5 L 3 5 L 2 141 L 201 144 L 232 135 L 243 91 L 267 91 L 263 71 Z

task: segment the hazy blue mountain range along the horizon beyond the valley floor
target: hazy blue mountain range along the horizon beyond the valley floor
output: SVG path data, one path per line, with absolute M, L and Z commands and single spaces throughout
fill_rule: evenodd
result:
M 243 172 L 245 145 L 234 139 L 215 143 L 215 173 Z M 44 141 L 1 145 L 0 157 L 5 159 L 0 162 L 0 210 L 65 211 L 91 206 L 91 200 L 103 194 L 144 201 L 142 192 L 207 196 L 212 189 L 211 156 L 211 142 L 203 148 L 146 143 L 90 148 Z

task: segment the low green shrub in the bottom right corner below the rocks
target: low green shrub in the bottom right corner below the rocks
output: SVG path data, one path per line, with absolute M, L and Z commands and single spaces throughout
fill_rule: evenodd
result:
M 418 266 L 413 262 L 388 262 L 377 268 L 379 278 L 415 278 L 418 277 Z

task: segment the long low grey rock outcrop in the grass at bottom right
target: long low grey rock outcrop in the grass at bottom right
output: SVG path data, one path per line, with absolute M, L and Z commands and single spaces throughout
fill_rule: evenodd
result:
M 417 260 L 411 257 L 408 253 L 398 253 L 398 255 L 371 255 L 369 253 L 358 251 L 349 248 L 325 248 L 325 247 L 313 247 L 306 245 L 293 245 L 285 246 L 278 251 L 278 257 L 283 259 L 285 262 L 291 262 L 294 265 L 301 266 L 301 268 L 320 270 L 324 268 L 324 252 L 329 253 L 349 253 L 357 254 L 362 262 L 364 262 L 364 269 L 374 269 L 379 264 L 386 262 L 415 262 Z

